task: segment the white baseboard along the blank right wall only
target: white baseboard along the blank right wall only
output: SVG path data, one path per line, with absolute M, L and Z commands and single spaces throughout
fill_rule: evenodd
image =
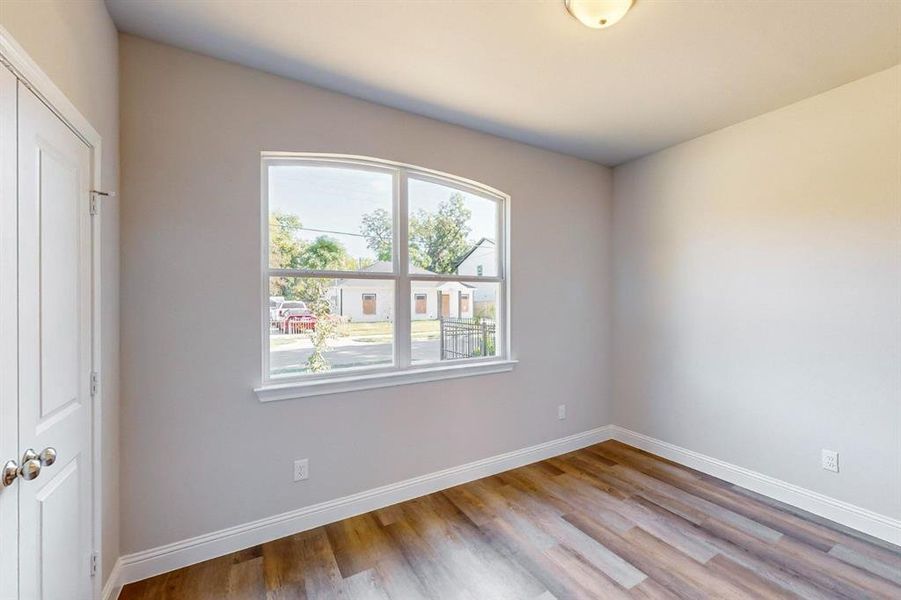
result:
M 774 500 L 901 546 L 901 521 L 830 498 L 818 492 L 763 475 L 744 467 L 663 442 L 618 425 L 610 426 L 612 438 L 624 444 L 668 458 L 680 465 L 713 475 Z

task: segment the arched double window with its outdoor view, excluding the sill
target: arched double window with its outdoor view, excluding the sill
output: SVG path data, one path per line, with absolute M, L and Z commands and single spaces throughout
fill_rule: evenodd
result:
M 374 160 L 263 161 L 269 379 L 503 354 L 502 195 Z

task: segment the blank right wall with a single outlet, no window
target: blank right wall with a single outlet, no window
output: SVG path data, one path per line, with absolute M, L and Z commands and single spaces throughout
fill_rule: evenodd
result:
M 615 170 L 616 424 L 901 517 L 899 91 L 894 67 Z

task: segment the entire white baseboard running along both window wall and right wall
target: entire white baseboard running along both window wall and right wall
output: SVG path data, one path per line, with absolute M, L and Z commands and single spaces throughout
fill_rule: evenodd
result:
M 418 498 L 455 485 L 509 471 L 609 439 L 646 450 L 836 523 L 901 545 L 901 521 L 897 519 L 617 425 L 606 425 L 536 446 L 514 450 L 458 467 L 451 467 L 273 517 L 122 556 L 116 561 L 116 565 L 103 587 L 103 600 L 118 598 L 122 587 L 128 583 L 398 502 Z

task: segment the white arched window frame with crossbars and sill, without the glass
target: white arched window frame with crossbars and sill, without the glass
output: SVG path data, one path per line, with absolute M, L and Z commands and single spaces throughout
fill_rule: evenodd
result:
M 390 273 L 368 271 L 324 271 L 307 269 L 271 269 L 269 267 L 269 167 L 283 165 L 346 167 L 391 174 L 393 186 L 394 237 Z M 261 154 L 261 385 L 254 389 L 262 402 L 318 396 L 339 392 L 404 385 L 470 375 L 510 371 L 513 359 L 510 336 L 510 196 L 484 184 L 415 165 L 345 154 L 306 152 L 263 152 Z M 498 264 L 496 276 L 422 275 L 409 272 L 407 182 L 427 181 L 492 200 L 497 207 Z M 336 369 L 327 373 L 270 377 L 269 371 L 269 279 L 282 277 L 321 277 L 328 279 L 376 279 L 394 283 L 394 360 L 391 365 Z M 497 355 L 412 364 L 410 329 L 413 318 L 412 281 L 496 283 Z M 440 310 L 440 307 L 439 307 Z

